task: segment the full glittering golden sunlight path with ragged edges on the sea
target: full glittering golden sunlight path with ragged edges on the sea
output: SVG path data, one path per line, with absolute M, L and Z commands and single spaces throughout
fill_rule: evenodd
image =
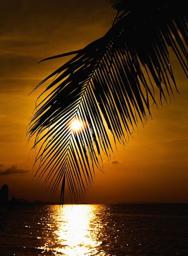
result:
M 98 240 L 98 233 L 102 226 L 96 221 L 97 205 L 59 205 L 53 207 L 50 218 L 55 223 L 55 240 L 53 243 L 54 255 L 91 256 L 98 255 L 96 247 L 102 243 Z M 59 245 L 59 246 L 57 246 Z M 51 247 L 51 248 L 48 248 Z M 52 249 L 52 240 L 49 238 L 44 247 L 45 251 Z M 100 252 L 103 256 L 103 252 Z

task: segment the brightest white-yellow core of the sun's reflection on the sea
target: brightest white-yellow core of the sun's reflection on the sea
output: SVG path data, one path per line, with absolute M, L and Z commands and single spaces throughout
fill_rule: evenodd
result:
M 62 252 L 66 255 L 87 255 L 91 251 L 95 253 L 98 244 L 95 237 L 91 236 L 90 223 L 94 218 L 92 208 L 92 205 L 66 205 L 63 214 L 57 216 L 59 229 L 56 233 L 65 245 Z

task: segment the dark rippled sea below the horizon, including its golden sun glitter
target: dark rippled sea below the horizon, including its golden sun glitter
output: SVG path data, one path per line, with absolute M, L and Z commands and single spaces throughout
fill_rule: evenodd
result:
M 188 204 L 20 205 L 0 256 L 188 256 Z

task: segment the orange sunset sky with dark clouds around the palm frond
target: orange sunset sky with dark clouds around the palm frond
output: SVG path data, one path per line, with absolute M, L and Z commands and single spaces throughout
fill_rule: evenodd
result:
M 83 48 L 103 36 L 116 12 L 105 0 L 8 0 L 0 17 L 0 187 L 9 186 L 9 199 L 48 200 L 36 186 L 34 157 L 26 145 L 26 126 L 35 100 L 45 88 L 29 94 L 42 79 L 68 58 L 37 64 L 43 58 Z M 151 108 L 125 148 L 110 162 L 105 174 L 96 170 L 92 189 L 82 202 L 188 203 L 188 88 L 187 79 L 171 56 L 180 95 L 167 106 Z M 29 94 L 29 95 L 28 95 Z M 59 200 L 59 195 L 55 198 Z

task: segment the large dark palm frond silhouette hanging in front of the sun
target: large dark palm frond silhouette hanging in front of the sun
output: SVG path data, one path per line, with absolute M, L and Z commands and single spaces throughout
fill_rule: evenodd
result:
M 177 91 L 169 48 L 188 77 L 186 1 L 111 0 L 117 10 L 114 24 L 98 40 L 74 56 L 38 85 L 53 79 L 39 99 L 28 128 L 39 146 L 38 179 L 55 195 L 61 184 L 63 203 L 68 184 L 77 202 L 92 185 L 95 166 L 102 171 L 102 155 L 113 152 L 109 134 L 124 144 L 151 115 L 150 106 Z M 44 61 L 42 60 L 42 61 Z M 45 94 L 46 95 L 46 94 Z M 82 121 L 82 130 L 71 123 Z

